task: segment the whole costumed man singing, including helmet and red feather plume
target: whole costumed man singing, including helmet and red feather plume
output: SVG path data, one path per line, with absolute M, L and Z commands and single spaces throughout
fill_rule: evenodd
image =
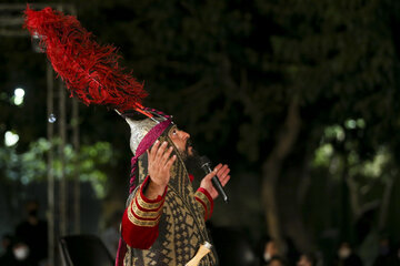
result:
M 230 178 L 228 165 L 219 164 L 193 191 L 193 176 L 184 161 L 193 156 L 190 135 L 171 117 L 141 105 L 143 84 L 118 63 L 116 48 L 100 45 L 72 16 L 44 8 L 26 11 L 24 27 L 48 55 L 53 69 L 72 96 L 86 104 L 114 109 L 131 127 L 130 147 L 134 154 L 130 196 L 122 217 L 117 265 L 186 265 L 204 242 L 210 243 L 206 221 L 218 196 L 211 183 Z M 132 120 L 132 112 L 146 120 Z M 136 178 L 138 176 L 138 178 Z M 213 248 L 200 265 L 218 265 Z

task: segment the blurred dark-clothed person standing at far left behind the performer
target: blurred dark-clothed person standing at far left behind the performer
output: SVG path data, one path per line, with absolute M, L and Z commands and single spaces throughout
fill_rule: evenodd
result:
M 27 256 L 33 266 L 46 265 L 48 257 L 48 227 L 47 222 L 39 218 L 39 203 L 29 201 L 26 204 L 27 217 L 16 229 L 16 238 L 19 241 L 13 247 L 16 258 Z

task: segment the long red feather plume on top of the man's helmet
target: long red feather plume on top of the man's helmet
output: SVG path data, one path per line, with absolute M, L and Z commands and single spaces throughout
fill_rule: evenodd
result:
M 40 45 L 71 96 L 87 105 L 104 104 L 121 113 L 127 110 L 142 112 L 147 96 L 143 84 L 118 65 L 121 58 L 112 45 L 100 45 L 72 16 L 44 8 L 24 11 L 27 28 L 32 37 L 40 38 Z M 147 114 L 148 115 L 148 114 Z

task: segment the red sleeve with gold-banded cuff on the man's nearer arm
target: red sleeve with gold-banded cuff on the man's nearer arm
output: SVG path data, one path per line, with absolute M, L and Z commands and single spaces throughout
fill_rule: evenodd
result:
M 132 248 L 149 249 L 159 235 L 159 222 L 167 187 L 162 196 L 149 200 L 143 194 L 148 183 L 149 176 L 132 193 L 122 217 L 121 235 Z

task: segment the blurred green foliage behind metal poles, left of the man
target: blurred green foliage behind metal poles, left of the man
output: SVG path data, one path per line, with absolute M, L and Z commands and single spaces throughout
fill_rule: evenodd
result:
M 46 181 L 47 178 L 47 158 L 46 153 L 51 145 L 58 145 L 59 140 L 54 140 L 53 144 L 46 139 L 39 139 L 31 142 L 29 150 L 18 153 L 14 146 L 0 147 L 0 167 L 2 170 L 1 177 L 9 181 L 27 185 L 34 181 Z M 99 198 L 103 198 L 107 194 L 107 177 L 101 170 L 102 165 L 113 165 L 111 161 L 114 152 L 108 142 L 97 142 L 92 145 L 82 145 L 79 154 L 77 154 L 71 145 L 64 149 L 66 156 L 66 175 L 72 180 L 73 171 L 79 164 L 80 181 L 89 181 L 93 186 L 93 191 Z M 60 178 L 61 166 L 60 160 L 53 162 L 54 177 Z

